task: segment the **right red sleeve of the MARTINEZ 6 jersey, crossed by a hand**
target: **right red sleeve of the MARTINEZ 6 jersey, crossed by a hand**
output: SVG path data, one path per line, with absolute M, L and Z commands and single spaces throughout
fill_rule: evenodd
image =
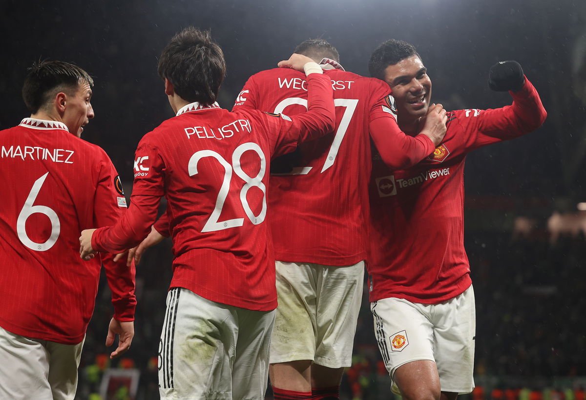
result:
M 126 198 L 118 173 L 112 162 L 104 153 L 104 159 L 94 196 L 94 223 L 98 227 L 115 224 L 126 210 Z M 126 260 L 114 262 L 113 254 L 102 254 L 108 286 L 112 292 L 114 318 L 118 321 L 134 320 L 137 299 L 134 294 L 134 262 L 129 268 Z

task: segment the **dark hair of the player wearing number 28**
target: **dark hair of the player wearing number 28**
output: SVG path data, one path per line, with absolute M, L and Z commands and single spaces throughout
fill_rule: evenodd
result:
M 161 53 L 159 76 L 167 78 L 183 100 L 210 105 L 226 76 L 224 53 L 208 30 L 189 26 L 177 33 Z

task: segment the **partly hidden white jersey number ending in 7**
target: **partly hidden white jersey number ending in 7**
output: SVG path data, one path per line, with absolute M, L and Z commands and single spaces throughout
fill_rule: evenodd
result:
M 289 97 L 285 100 L 281 101 L 275 107 L 275 114 L 281 114 L 285 108 L 289 105 L 299 104 L 303 105 L 307 108 L 307 100 L 301 97 Z M 342 115 L 342 119 L 340 119 L 340 124 L 338 125 L 338 129 L 336 129 L 336 133 L 334 135 L 332 145 L 330 146 L 328 155 L 326 156 L 326 160 L 323 163 L 323 167 L 321 172 L 324 172 L 326 169 L 333 165 L 333 162 L 336 160 L 336 156 L 338 156 L 338 151 L 340 149 L 340 145 L 342 144 L 342 140 L 346 135 L 346 131 L 348 129 L 348 125 L 350 125 L 350 120 L 352 120 L 352 115 L 354 115 L 354 111 L 356 111 L 356 105 L 358 104 L 358 100 L 350 99 L 350 98 L 335 98 L 333 101 L 333 105 L 335 107 L 344 107 L 344 114 Z M 278 175 L 306 175 L 312 167 L 301 167 L 301 168 L 294 168 L 293 172 L 285 173 L 285 174 L 278 174 Z

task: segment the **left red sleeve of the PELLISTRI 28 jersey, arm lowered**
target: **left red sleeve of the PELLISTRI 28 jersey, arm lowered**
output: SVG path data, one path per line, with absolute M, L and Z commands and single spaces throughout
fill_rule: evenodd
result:
M 158 148 L 145 138 L 135 153 L 136 173 L 130 207 L 115 225 L 94 232 L 91 238 L 94 250 L 115 253 L 135 247 L 151 230 L 164 193 L 165 163 Z

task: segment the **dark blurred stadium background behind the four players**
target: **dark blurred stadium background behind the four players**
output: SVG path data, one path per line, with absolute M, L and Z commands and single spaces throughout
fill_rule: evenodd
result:
M 10 0 L 0 10 L 0 129 L 28 117 L 20 91 L 33 60 L 79 64 L 96 81 L 96 118 L 84 138 L 110 154 L 127 195 L 139 139 L 172 116 L 156 63 L 168 39 L 185 26 L 211 29 L 224 49 L 224 108 L 231 108 L 248 76 L 275 66 L 310 37 L 329 40 L 343 66 L 363 75 L 379 43 L 391 37 L 413 43 L 429 69 L 434 101 L 448 110 L 508 104 L 507 94 L 488 89 L 488 69 L 499 60 L 519 61 L 548 119 L 531 135 L 468 156 L 465 240 L 477 302 L 478 387 L 465 397 L 584 399 L 584 0 Z M 112 309 L 105 280 L 100 283 L 79 399 L 158 398 L 156 354 L 170 247 L 163 242 L 151 249 L 137 268 L 136 336 L 120 360 L 109 361 L 103 344 Z M 393 396 L 367 306 L 365 297 L 342 399 Z

